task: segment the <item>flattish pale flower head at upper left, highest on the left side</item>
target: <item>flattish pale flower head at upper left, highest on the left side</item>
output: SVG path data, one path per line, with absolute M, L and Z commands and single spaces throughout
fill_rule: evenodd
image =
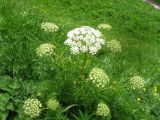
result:
M 46 32 L 56 32 L 59 30 L 58 25 L 55 23 L 45 22 L 41 24 L 41 28 Z

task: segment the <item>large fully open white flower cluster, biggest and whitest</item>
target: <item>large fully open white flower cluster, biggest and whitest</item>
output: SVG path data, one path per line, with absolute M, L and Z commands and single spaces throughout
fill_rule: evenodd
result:
M 96 54 L 105 40 L 102 38 L 102 33 L 89 26 L 76 28 L 67 34 L 68 39 L 64 44 L 70 47 L 72 54 L 91 53 Z

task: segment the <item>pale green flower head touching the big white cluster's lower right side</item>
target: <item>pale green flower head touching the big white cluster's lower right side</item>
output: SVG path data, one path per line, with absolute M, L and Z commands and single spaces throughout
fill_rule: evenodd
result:
M 117 40 L 111 40 L 107 43 L 107 47 L 113 51 L 114 53 L 115 52 L 121 52 L 122 49 L 121 49 L 121 44 L 119 41 Z

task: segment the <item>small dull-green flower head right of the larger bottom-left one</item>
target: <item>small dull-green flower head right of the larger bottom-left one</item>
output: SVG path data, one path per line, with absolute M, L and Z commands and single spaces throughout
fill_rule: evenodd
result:
M 56 110 L 58 107 L 60 107 L 60 104 L 56 99 L 51 98 L 47 102 L 47 107 L 48 109 Z

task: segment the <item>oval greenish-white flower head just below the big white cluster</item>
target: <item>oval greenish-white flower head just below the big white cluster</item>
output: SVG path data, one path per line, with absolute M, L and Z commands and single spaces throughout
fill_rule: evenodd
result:
M 89 81 L 97 88 L 105 88 L 109 82 L 108 75 L 100 68 L 94 68 L 89 73 Z

